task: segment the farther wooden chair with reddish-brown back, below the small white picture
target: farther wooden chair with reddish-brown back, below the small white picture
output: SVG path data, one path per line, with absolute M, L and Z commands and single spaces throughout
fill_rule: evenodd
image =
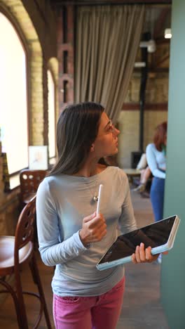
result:
M 23 169 L 20 172 L 20 202 L 21 209 L 27 205 L 34 195 L 37 188 L 45 178 L 47 170 L 29 170 Z

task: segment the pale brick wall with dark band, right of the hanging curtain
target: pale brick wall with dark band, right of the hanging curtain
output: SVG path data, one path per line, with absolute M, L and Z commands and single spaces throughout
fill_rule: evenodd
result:
M 134 72 L 130 81 L 123 110 L 118 118 L 119 135 L 118 164 L 131 166 L 131 152 L 139 150 L 139 84 L 140 73 Z M 144 150 L 153 140 L 154 129 L 167 120 L 168 73 L 149 75 L 146 84 L 144 110 Z

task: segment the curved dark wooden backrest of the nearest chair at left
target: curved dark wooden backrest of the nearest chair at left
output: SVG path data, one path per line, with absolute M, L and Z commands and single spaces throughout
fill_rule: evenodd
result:
M 36 219 L 36 196 L 22 209 L 15 230 L 14 257 L 18 260 L 20 248 L 31 242 L 34 245 L 34 221 Z

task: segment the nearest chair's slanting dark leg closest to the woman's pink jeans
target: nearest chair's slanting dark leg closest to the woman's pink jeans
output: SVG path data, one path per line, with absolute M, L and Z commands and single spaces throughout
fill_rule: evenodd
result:
M 36 264 L 36 258 L 33 254 L 31 261 L 29 262 L 29 267 L 32 271 L 32 276 L 34 279 L 34 283 L 37 285 L 38 290 L 39 290 L 39 295 L 40 295 L 40 299 L 41 299 L 41 304 L 43 304 L 43 311 L 44 311 L 44 315 L 46 318 L 46 323 L 48 326 L 48 329 L 52 329 L 52 326 L 50 324 L 50 317 L 48 314 L 48 309 L 47 309 L 47 305 L 46 305 L 46 299 L 44 297 L 44 293 L 43 293 L 43 288 L 42 288 L 42 284 L 41 284 L 41 278 L 39 276 L 39 269 L 38 266 Z

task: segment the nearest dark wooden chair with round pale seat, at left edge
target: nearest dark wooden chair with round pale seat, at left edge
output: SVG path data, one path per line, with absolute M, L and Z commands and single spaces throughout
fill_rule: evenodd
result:
M 27 313 L 23 297 L 24 294 L 33 295 L 40 300 L 39 316 L 36 318 L 34 328 L 38 328 L 41 316 L 44 312 L 47 327 L 51 329 L 52 327 L 46 307 L 46 299 L 43 294 L 39 270 L 34 254 L 35 203 L 36 197 L 32 198 L 24 209 L 22 209 L 15 230 L 15 236 L 0 236 L 0 284 L 6 288 L 0 292 L 11 293 L 20 329 L 28 329 Z M 25 262 L 29 262 L 29 268 L 32 272 L 32 277 L 34 283 L 37 285 L 39 293 L 22 291 L 20 266 Z M 15 289 L 6 282 L 6 276 L 11 274 L 15 275 Z

